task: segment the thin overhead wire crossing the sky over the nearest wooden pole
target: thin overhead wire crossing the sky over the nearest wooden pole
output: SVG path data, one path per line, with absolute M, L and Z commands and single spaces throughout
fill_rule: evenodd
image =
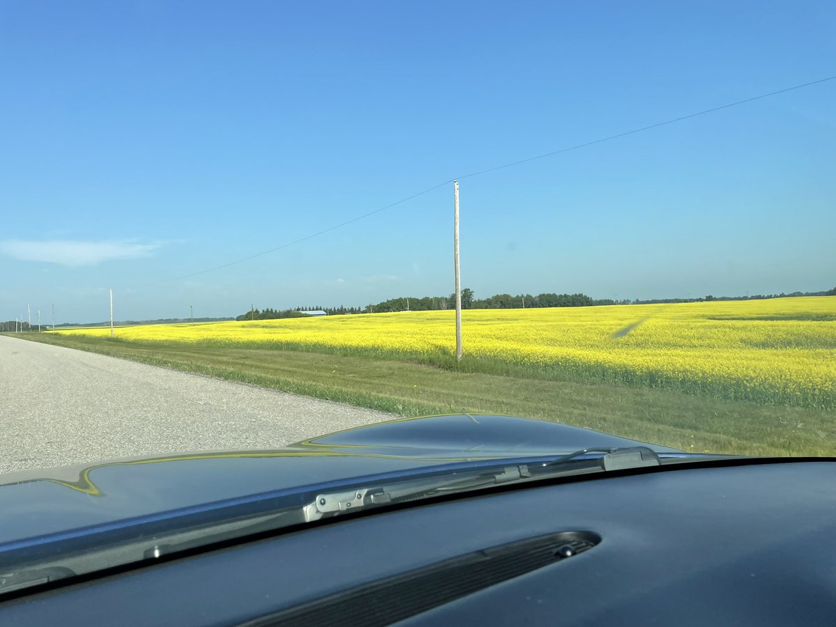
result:
M 400 201 L 395 201 L 395 202 L 391 203 L 390 205 L 381 206 L 380 209 L 375 209 L 375 211 L 364 213 L 361 216 L 353 217 L 350 220 L 346 220 L 345 222 L 340 222 L 339 224 L 335 224 L 333 227 L 328 227 L 326 229 L 323 229 L 322 231 L 311 233 L 310 235 L 306 235 L 305 237 L 299 237 L 298 239 L 295 239 L 292 242 L 283 243 L 281 246 L 273 247 L 273 248 L 270 248 L 269 250 L 265 250 L 265 251 L 262 251 L 262 252 L 257 252 L 254 255 L 250 255 L 248 257 L 242 257 L 240 259 L 236 259 L 235 261 L 232 261 L 232 262 L 229 262 L 229 263 L 223 263 L 222 265 L 215 266 L 214 268 L 206 268 L 206 270 L 200 270 L 196 273 L 191 273 L 191 274 L 184 274 L 180 277 L 175 277 L 175 278 L 171 278 L 171 279 L 168 279 L 168 280 L 169 281 L 179 281 L 183 278 L 196 277 L 199 274 L 211 273 L 211 272 L 214 272 L 215 270 L 220 270 L 222 268 L 229 268 L 230 266 L 234 266 L 234 265 L 237 265 L 238 263 L 243 263 L 245 261 L 250 261 L 251 259 L 255 259 L 257 257 L 263 257 L 264 255 L 268 255 L 271 252 L 276 252 L 276 251 L 282 250 L 283 248 L 291 247 L 291 246 L 293 246 L 295 244 L 298 244 L 298 243 L 301 243 L 301 242 L 306 242 L 309 239 L 313 239 L 314 237 L 319 237 L 320 235 L 324 235 L 327 232 L 331 232 L 331 231 L 334 231 L 338 228 L 345 227 L 345 226 L 351 224 L 352 222 L 358 222 L 359 220 L 363 220 L 364 218 L 374 216 L 375 213 L 385 212 L 387 209 L 391 209 L 393 206 L 398 206 L 398 205 L 403 204 L 406 201 L 411 201 L 414 198 L 417 198 L 418 196 L 423 196 L 424 194 L 427 194 L 431 191 L 437 190 L 439 187 L 446 186 L 447 184 L 449 184 L 453 181 L 456 181 L 456 180 L 466 179 L 466 178 L 470 178 L 472 176 L 481 176 L 482 174 L 487 174 L 488 172 L 494 172 L 494 171 L 502 170 L 504 168 L 509 168 L 509 167 L 512 167 L 512 166 L 520 166 L 523 163 L 529 163 L 531 161 L 537 161 L 538 159 L 545 159 L 546 157 L 550 157 L 550 156 L 554 156 L 554 155 L 560 155 L 560 154 L 563 154 L 564 152 L 569 152 L 570 150 L 579 150 L 580 148 L 586 148 L 587 146 L 590 146 L 590 145 L 604 143 L 604 141 L 617 140 L 620 137 L 625 137 L 627 135 L 635 135 L 636 133 L 642 133 L 645 130 L 656 129 L 656 128 L 659 128 L 660 126 L 675 124 L 676 122 L 681 122 L 683 120 L 690 120 L 691 118 L 696 118 L 700 115 L 706 115 L 706 114 L 709 114 L 709 113 L 714 113 L 716 111 L 721 111 L 721 110 L 724 110 L 724 109 L 728 109 L 730 107 L 736 107 L 739 104 L 747 104 L 747 103 L 753 102 L 755 100 L 769 98 L 770 96 L 774 96 L 774 95 L 777 95 L 777 94 L 786 94 L 788 91 L 793 91 L 794 89 L 802 89 L 804 87 L 810 87 L 811 85 L 815 85 L 815 84 L 819 84 L 819 83 L 825 83 L 828 80 L 833 80 L 833 79 L 836 79 L 836 75 L 828 76 L 827 78 L 824 78 L 824 79 L 813 80 L 813 81 L 810 81 L 808 83 L 793 85 L 792 87 L 787 87 L 787 88 L 784 88 L 784 89 L 777 89 L 776 91 L 770 91 L 766 94 L 759 94 L 757 96 L 752 96 L 751 98 L 746 98 L 746 99 L 742 99 L 742 100 L 736 100 L 735 102 L 721 104 L 718 107 L 712 107 L 711 109 L 697 111 L 696 113 L 691 113 L 691 114 L 688 114 L 688 115 L 681 115 L 678 118 L 671 118 L 670 120 L 664 120 L 662 122 L 656 122 L 655 124 L 651 124 L 651 125 L 647 125 L 647 126 L 641 126 L 640 128 L 637 128 L 637 129 L 625 130 L 623 133 L 616 133 L 615 135 L 607 135 L 606 137 L 601 137 L 597 140 L 586 141 L 583 144 L 571 145 L 571 146 L 567 146 L 565 148 L 561 148 L 559 150 L 552 150 L 550 152 L 544 152 L 542 155 L 530 156 L 530 157 L 527 157 L 525 159 L 520 159 L 520 160 L 517 160 L 517 161 L 509 161 L 508 163 L 503 163 L 501 166 L 493 166 L 493 167 L 487 168 L 485 170 L 479 170 L 479 171 L 471 172 L 470 174 L 465 174 L 465 175 L 462 175 L 462 176 L 455 176 L 453 178 L 447 179 L 443 183 L 439 183 L 438 185 L 434 185 L 432 187 L 427 187 L 426 190 L 419 191 L 416 194 L 412 194 L 412 196 L 406 196 L 405 198 L 401 198 Z

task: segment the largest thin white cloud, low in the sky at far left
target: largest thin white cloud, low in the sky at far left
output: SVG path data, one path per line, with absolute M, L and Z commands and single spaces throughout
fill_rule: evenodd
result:
M 159 247 L 159 244 L 140 244 L 128 240 L 104 242 L 6 240 L 0 242 L 0 252 L 8 257 L 22 261 L 59 263 L 70 267 L 94 266 L 110 259 L 148 257 Z

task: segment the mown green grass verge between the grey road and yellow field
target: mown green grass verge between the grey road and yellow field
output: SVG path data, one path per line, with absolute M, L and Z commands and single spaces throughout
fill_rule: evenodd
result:
M 836 456 L 832 410 L 758 405 L 602 382 L 533 379 L 512 372 L 460 372 L 442 364 L 370 354 L 135 343 L 46 333 L 18 337 L 400 415 L 461 411 L 521 415 L 685 451 Z

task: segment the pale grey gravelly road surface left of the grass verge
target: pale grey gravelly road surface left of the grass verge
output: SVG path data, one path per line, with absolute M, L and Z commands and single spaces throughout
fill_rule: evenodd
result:
M 273 448 L 393 417 L 0 336 L 0 472 Z

